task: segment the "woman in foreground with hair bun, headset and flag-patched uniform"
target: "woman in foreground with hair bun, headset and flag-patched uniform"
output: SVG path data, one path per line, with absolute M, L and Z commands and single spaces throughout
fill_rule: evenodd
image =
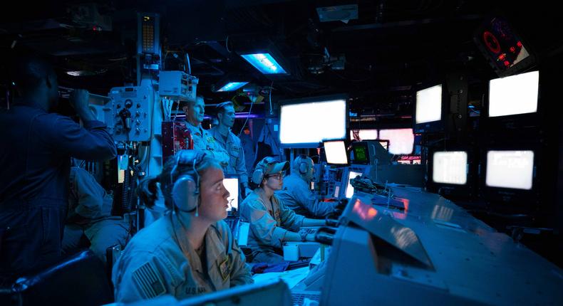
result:
M 177 299 L 253 283 L 227 223 L 229 191 L 223 172 L 205 152 L 183 150 L 140 196 L 154 204 L 159 189 L 168 211 L 139 231 L 113 268 L 117 302 L 173 295 Z

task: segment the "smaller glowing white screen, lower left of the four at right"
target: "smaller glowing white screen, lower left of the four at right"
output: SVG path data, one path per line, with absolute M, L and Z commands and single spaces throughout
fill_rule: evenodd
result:
M 468 153 L 435 152 L 432 158 L 432 180 L 435 183 L 464 185 L 468 181 Z

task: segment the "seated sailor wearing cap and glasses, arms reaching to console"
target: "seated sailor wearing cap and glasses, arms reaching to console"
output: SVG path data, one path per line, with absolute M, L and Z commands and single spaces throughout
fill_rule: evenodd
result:
M 288 162 L 265 157 L 255 167 L 252 182 L 258 187 L 240 205 L 241 221 L 250 223 L 247 246 L 254 262 L 280 263 L 284 241 L 314 241 L 314 234 L 297 233 L 301 226 L 324 226 L 324 220 L 305 218 L 288 209 L 274 191 L 282 189 Z

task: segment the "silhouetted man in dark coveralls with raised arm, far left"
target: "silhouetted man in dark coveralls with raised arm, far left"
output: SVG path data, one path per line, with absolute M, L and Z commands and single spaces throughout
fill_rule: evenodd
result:
M 61 255 L 70 157 L 102 161 L 116 154 L 113 138 L 88 108 L 87 90 L 70 98 L 81 127 L 51 113 L 58 103 L 51 65 L 20 58 L 9 75 L 18 95 L 0 110 L 0 277 L 42 268 Z

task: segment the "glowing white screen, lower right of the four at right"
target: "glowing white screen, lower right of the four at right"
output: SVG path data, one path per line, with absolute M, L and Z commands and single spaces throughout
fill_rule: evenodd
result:
M 533 175 L 533 151 L 487 152 L 487 186 L 530 190 Z

